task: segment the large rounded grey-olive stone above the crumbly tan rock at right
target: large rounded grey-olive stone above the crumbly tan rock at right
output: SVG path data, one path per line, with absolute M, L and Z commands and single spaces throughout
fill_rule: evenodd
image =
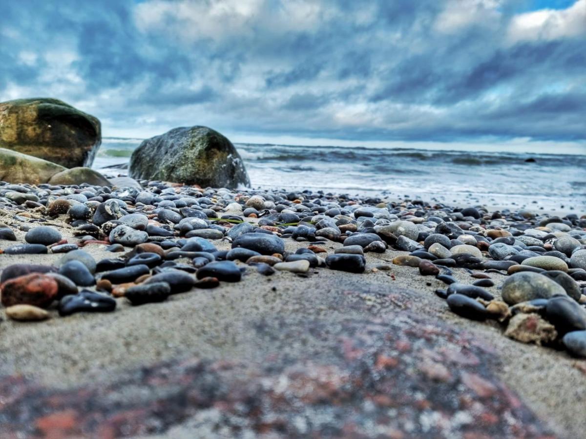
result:
M 533 299 L 550 299 L 556 294 L 566 295 L 559 284 L 540 273 L 533 272 L 518 272 L 511 275 L 503 282 L 501 294 L 509 305 Z

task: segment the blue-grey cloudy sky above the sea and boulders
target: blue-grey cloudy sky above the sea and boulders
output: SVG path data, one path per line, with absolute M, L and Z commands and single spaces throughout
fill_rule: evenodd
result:
M 586 148 L 585 47 L 586 0 L 5 1 L 0 101 L 105 136 Z

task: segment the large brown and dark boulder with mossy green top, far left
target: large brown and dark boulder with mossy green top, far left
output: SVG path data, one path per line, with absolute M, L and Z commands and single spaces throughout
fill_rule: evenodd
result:
M 100 121 L 63 101 L 0 103 L 0 147 L 65 167 L 91 166 L 101 143 Z

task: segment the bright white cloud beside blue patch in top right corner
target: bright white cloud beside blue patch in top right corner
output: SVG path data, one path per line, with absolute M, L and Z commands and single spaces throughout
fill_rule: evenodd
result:
M 507 32 L 507 41 L 513 44 L 526 40 L 556 40 L 579 35 L 586 35 L 586 0 L 578 0 L 567 9 L 542 9 L 513 17 Z

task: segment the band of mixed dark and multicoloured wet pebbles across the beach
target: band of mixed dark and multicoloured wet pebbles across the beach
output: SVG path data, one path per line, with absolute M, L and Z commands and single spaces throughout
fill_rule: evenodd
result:
M 445 284 L 430 294 L 453 313 L 495 320 L 506 337 L 586 357 L 586 216 L 139 183 L 115 190 L 0 184 L 0 212 L 12 218 L 0 224 L 2 258 L 63 254 L 54 265 L 2 270 L 7 317 L 42 321 L 113 312 L 118 300 L 160 303 L 172 294 L 246 282 L 246 270 L 360 276 L 392 269 L 367 265 L 364 253 L 393 249 L 404 252 L 394 265 Z M 47 225 L 55 220 L 66 222 L 76 238 L 63 239 L 59 228 Z M 15 230 L 26 232 L 25 242 L 16 242 Z M 285 251 L 288 239 L 306 246 Z M 221 241 L 231 249 L 217 249 L 214 242 Z M 328 253 L 331 242 L 342 246 Z M 107 246 L 111 258 L 94 260 L 83 249 L 90 245 Z M 469 283 L 458 282 L 454 270 L 468 272 Z M 496 283 L 497 297 L 487 290 Z

